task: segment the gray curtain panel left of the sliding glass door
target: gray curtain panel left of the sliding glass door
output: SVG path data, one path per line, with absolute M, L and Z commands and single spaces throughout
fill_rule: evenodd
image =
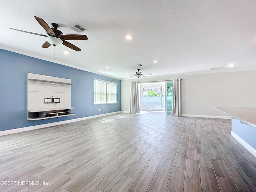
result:
M 131 82 L 130 113 L 140 113 L 138 82 Z

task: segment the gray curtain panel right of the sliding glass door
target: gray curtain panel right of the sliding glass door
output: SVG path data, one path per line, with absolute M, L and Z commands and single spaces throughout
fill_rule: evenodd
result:
M 174 79 L 173 80 L 173 102 L 172 102 L 172 115 L 173 116 L 181 116 L 181 94 L 180 88 L 181 80 Z

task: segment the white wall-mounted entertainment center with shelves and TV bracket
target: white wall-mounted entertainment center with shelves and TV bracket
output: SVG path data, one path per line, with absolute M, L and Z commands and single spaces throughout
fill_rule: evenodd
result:
M 28 73 L 28 120 L 75 115 L 71 110 L 71 80 Z

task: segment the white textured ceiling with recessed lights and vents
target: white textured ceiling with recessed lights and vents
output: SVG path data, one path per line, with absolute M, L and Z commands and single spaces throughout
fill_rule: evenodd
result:
M 49 26 L 59 24 L 63 34 L 78 34 L 68 28 L 75 23 L 85 27 L 79 34 L 88 40 L 69 41 L 82 51 L 55 47 L 55 62 L 67 66 L 120 79 L 129 78 L 125 73 L 135 73 L 138 68 L 152 76 L 256 69 L 255 0 L 0 3 L 0 48 L 5 50 L 53 61 L 53 46 L 41 48 L 45 37 L 8 29 L 46 34 L 34 16 Z M 132 40 L 126 40 L 126 34 L 132 34 Z M 233 68 L 228 67 L 230 63 Z M 209 71 L 218 67 L 222 69 Z

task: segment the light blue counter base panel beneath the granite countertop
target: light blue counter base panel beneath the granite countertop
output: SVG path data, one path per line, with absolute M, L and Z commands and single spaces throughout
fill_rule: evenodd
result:
M 241 124 L 240 120 L 237 119 L 232 119 L 231 123 L 232 131 L 256 150 L 256 127 Z

